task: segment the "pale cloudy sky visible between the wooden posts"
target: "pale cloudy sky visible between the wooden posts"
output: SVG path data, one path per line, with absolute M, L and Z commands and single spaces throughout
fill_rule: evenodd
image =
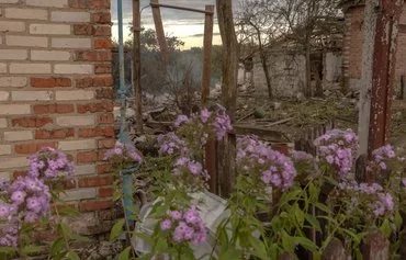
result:
M 113 38 L 117 38 L 117 1 L 112 2 L 112 20 L 113 20 Z M 133 0 L 123 0 L 123 16 L 124 16 L 124 39 L 128 38 L 128 23 L 133 19 Z M 160 0 L 160 3 L 188 7 L 204 10 L 205 4 L 214 4 L 215 0 Z M 147 7 L 149 0 L 140 0 L 140 7 Z M 185 12 L 181 10 L 161 9 L 163 30 L 167 35 L 177 36 L 184 42 L 184 49 L 191 47 L 201 47 L 203 45 L 204 33 L 204 14 Z M 142 12 L 142 26 L 146 29 L 155 29 L 150 8 L 146 8 Z M 219 30 L 217 24 L 213 29 L 213 44 L 221 44 Z

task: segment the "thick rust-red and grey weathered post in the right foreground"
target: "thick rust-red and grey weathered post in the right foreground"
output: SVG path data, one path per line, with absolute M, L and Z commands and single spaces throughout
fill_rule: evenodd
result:
M 365 1 L 359 155 L 387 143 L 395 83 L 397 24 L 404 0 Z

